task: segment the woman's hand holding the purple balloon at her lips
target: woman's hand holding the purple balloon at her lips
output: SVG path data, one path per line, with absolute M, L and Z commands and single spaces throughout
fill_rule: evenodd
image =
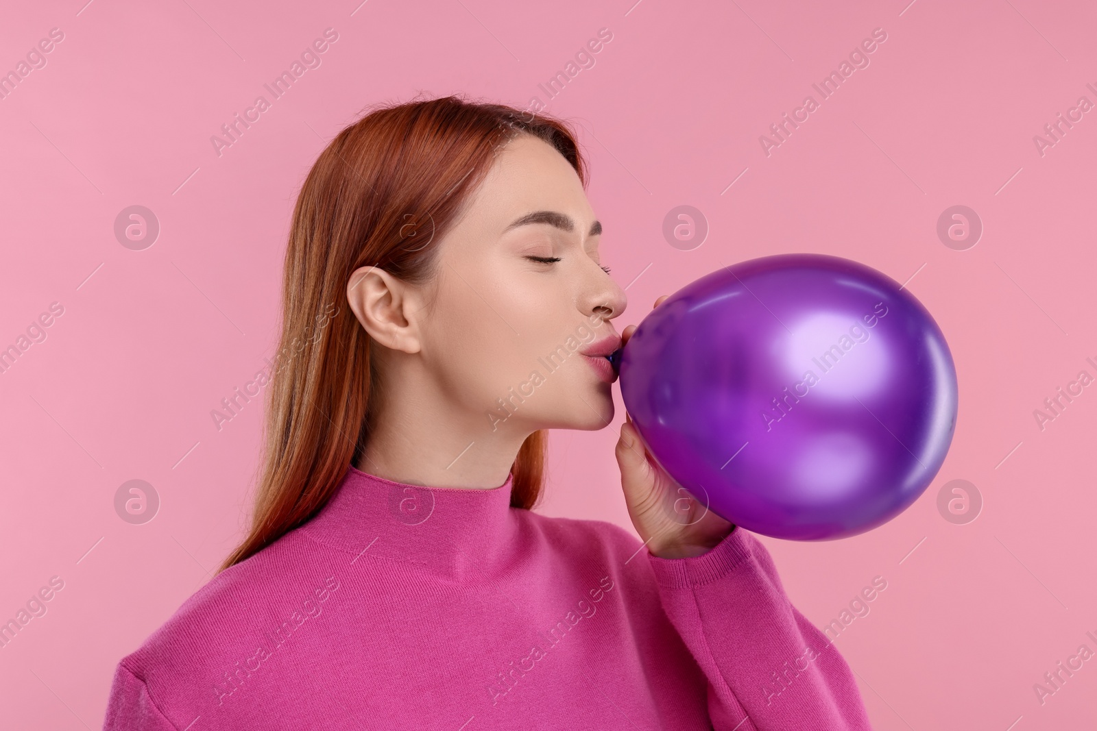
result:
M 655 307 L 666 298 L 663 295 L 656 299 Z M 629 342 L 635 330 L 634 324 L 624 329 L 622 344 Z M 694 500 L 656 464 L 644 448 L 627 411 L 615 454 L 629 516 L 653 556 L 668 559 L 700 556 L 735 527 L 711 512 L 708 504 Z

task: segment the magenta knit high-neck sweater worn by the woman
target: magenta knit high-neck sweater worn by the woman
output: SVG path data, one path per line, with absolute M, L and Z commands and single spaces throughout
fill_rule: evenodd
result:
M 749 533 L 660 559 L 510 489 L 350 468 L 122 659 L 103 728 L 871 729 Z

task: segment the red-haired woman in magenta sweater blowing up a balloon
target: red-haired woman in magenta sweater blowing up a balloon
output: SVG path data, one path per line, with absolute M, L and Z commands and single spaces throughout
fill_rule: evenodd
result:
M 456 98 L 324 150 L 251 532 L 121 661 L 105 729 L 870 728 L 762 545 L 631 422 L 643 542 L 531 512 L 546 430 L 611 422 L 607 356 L 634 330 L 585 185 L 567 126 Z

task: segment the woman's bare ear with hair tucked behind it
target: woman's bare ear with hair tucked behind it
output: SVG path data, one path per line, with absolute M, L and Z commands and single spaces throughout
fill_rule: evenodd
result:
M 421 350 L 419 293 L 406 282 L 376 266 L 359 267 L 347 283 L 347 302 L 377 343 L 405 353 Z

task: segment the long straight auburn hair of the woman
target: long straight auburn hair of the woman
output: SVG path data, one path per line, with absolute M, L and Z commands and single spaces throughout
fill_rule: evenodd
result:
M 374 108 L 320 152 L 290 226 L 251 527 L 218 571 L 316 515 L 364 454 L 380 384 L 372 339 L 347 304 L 351 273 L 372 265 L 416 286 L 430 282 L 440 240 L 499 149 L 521 134 L 552 145 L 586 186 L 567 124 L 459 96 Z M 540 430 L 519 448 L 512 506 L 536 503 L 546 442 Z

